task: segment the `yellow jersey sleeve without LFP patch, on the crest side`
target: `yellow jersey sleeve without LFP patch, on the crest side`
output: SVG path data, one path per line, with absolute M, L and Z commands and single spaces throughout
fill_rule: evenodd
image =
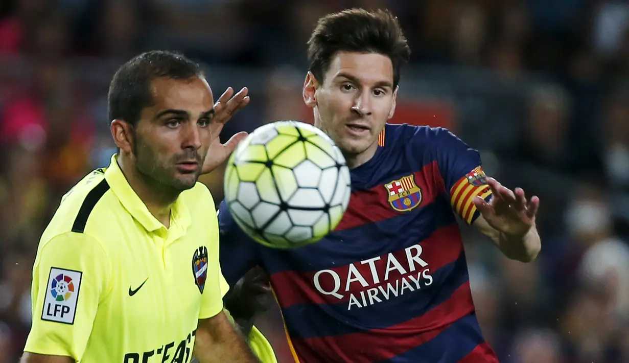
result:
M 201 297 L 199 319 L 211 318 L 223 311 L 223 295 L 227 292 L 225 290 L 225 279 L 221 272 L 218 221 L 214 213 L 211 213 L 210 220 L 212 237 L 207 242 L 208 276 L 206 277 L 203 296 Z

